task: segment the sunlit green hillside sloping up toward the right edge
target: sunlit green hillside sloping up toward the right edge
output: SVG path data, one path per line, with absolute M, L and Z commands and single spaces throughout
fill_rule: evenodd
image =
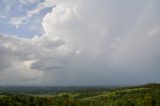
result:
M 160 85 L 147 84 L 113 89 L 96 96 L 81 98 L 79 104 L 83 106 L 160 106 Z

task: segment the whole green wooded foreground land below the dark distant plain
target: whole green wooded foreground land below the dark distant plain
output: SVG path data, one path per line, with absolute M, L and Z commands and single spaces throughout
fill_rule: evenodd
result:
M 1 92 L 0 106 L 160 106 L 160 84 L 40 94 Z

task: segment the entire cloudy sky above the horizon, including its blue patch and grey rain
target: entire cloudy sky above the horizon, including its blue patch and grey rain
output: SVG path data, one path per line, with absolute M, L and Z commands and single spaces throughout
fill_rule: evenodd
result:
M 0 85 L 135 85 L 159 76 L 159 0 L 0 1 Z

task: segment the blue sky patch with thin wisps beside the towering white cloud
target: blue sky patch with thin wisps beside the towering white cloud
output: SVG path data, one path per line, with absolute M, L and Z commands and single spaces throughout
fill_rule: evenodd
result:
M 24 22 L 17 28 L 11 24 L 12 18 L 21 19 L 25 17 L 27 12 L 36 8 L 39 3 L 44 0 L 39 0 L 35 3 L 23 4 L 19 0 L 1 0 L 0 1 L 0 28 L 1 34 L 16 35 L 22 38 L 32 38 L 35 35 L 43 33 L 41 21 L 45 14 L 51 11 L 51 8 L 44 8 L 38 14 L 26 18 Z

